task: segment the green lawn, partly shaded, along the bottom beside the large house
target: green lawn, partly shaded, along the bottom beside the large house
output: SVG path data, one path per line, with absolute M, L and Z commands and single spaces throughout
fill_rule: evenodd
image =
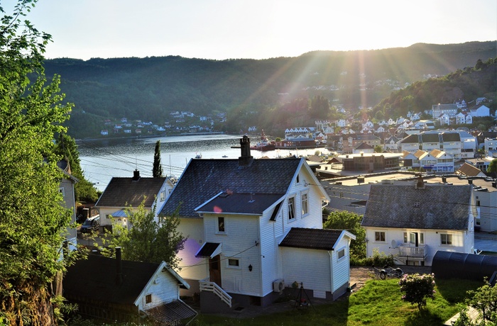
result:
M 428 299 L 422 311 L 400 299 L 397 279 L 371 280 L 348 298 L 329 305 L 315 305 L 314 309 L 289 310 L 245 319 L 200 315 L 192 325 L 442 325 L 459 312 L 466 291 L 483 285 L 482 282 L 465 280 L 436 281 L 435 299 Z

